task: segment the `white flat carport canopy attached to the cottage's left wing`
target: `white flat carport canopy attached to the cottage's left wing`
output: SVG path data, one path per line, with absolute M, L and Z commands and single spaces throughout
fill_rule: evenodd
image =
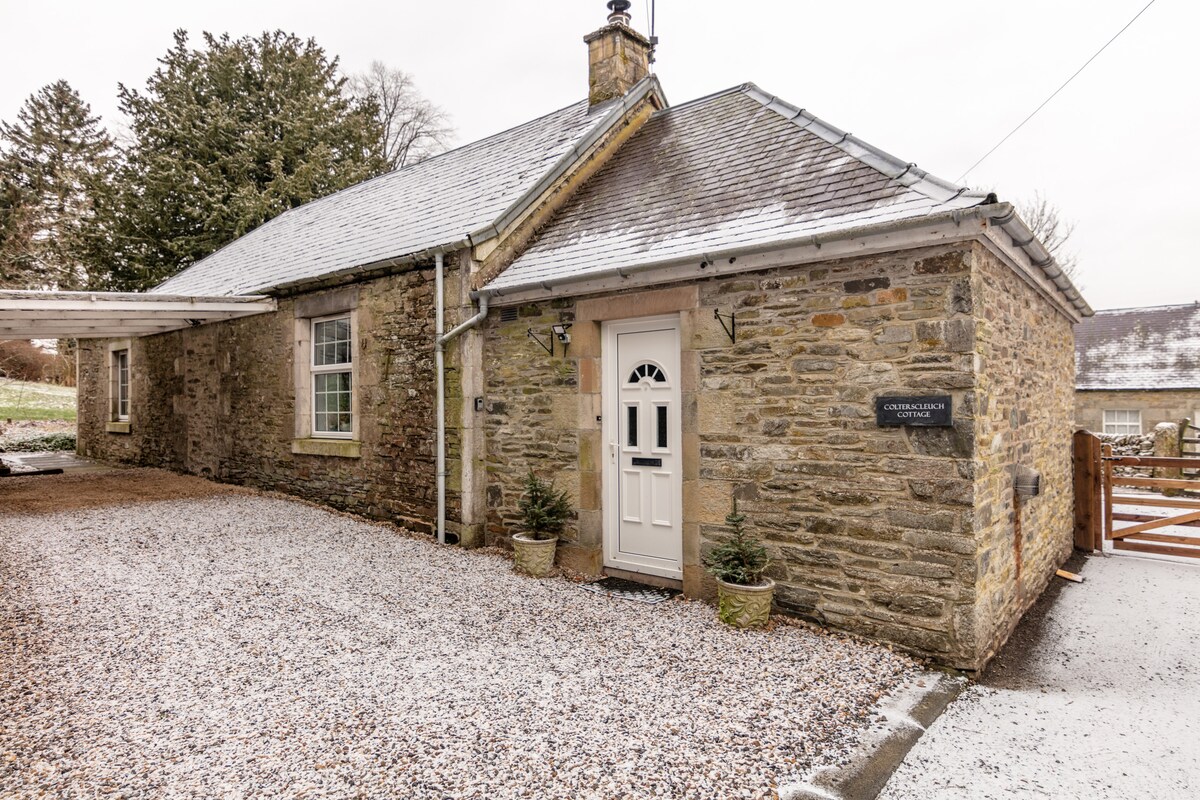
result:
M 116 291 L 0 291 L 0 339 L 150 336 L 275 311 L 263 296 L 193 297 Z

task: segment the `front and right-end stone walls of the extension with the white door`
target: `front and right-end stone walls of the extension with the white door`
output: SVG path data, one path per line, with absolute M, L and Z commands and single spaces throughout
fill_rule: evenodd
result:
M 982 667 L 1070 549 L 1070 321 L 980 245 L 524 306 L 487 327 L 490 542 L 536 467 L 578 506 L 562 559 L 599 571 L 600 325 L 672 312 L 684 591 L 710 595 L 701 555 L 737 498 L 780 609 Z M 570 357 L 530 357 L 527 329 L 558 321 Z M 953 398 L 952 427 L 876 425 L 877 396 L 923 393 Z M 1020 507 L 1016 465 L 1045 487 Z

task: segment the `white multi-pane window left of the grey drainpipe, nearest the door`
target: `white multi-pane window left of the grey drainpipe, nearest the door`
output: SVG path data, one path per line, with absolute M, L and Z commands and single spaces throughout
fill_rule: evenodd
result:
M 312 434 L 354 435 L 350 317 L 312 320 Z

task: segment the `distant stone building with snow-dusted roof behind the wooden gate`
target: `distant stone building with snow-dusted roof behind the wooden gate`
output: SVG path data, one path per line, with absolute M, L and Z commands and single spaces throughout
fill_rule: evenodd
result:
M 1096 312 L 1075 329 L 1075 425 L 1139 435 L 1200 426 L 1200 302 Z

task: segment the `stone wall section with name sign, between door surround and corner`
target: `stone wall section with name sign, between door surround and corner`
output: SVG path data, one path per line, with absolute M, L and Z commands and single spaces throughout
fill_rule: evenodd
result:
M 732 498 L 775 558 L 778 604 L 940 661 L 972 660 L 968 249 L 713 281 L 738 342 L 700 350 L 702 551 Z M 710 317 L 710 313 L 707 315 Z M 881 428 L 878 395 L 949 395 L 953 428 Z

